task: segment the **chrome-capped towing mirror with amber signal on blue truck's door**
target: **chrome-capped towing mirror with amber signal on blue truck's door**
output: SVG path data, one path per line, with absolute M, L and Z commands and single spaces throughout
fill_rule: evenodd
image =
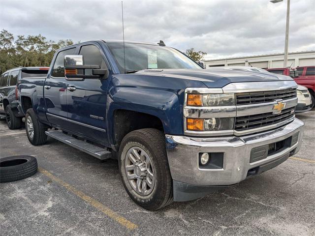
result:
M 87 75 L 86 69 L 92 69 L 92 75 Z M 64 56 L 64 76 L 66 80 L 70 81 L 100 79 L 101 77 L 107 79 L 108 69 L 100 69 L 99 65 L 84 65 L 82 55 L 66 55 Z

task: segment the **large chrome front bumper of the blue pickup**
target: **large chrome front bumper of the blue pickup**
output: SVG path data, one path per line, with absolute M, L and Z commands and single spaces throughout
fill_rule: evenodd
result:
M 182 187 L 183 184 L 192 185 L 193 188 L 196 185 L 200 187 L 233 185 L 251 176 L 249 173 L 252 173 L 251 170 L 256 167 L 265 166 L 261 170 L 267 170 L 267 163 L 276 163 L 277 165 L 277 160 L 283 160 L 300 149 L 303 125 L 304 123 L 301 120 L 295 118 L 291 123 L 278 129 L 241 137 L 200 138 L 166 135 L 168 162 L 174 180 L 174 200 L 176 201 L 175 187 L 178 184 Z M 292 146 L 284 147 L 278 152 L 268 155 L 265 159 L 250 162 L 252 148 L 285 140 L 296 133 L 298 133 L 298 140 Z M 222 168 L 200 169 L 199 153 L 203 152 L 223 152 Z M 274 166 L 271 165 L 269 169 Z M 258 168 L 256 169 L 256 174 L 259 174 L 261 171 L 259 172 Z M 191 200 L 191 198 L 188 200 Z

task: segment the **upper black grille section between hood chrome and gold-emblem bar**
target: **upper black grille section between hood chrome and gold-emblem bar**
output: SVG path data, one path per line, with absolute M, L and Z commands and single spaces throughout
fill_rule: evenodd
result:
M 296 89 L 236 93 L 236 105 L 273 102 L 296 97 Z

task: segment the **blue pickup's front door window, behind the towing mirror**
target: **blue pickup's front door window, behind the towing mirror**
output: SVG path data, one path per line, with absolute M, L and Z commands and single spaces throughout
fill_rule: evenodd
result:
M 79 55 L 83 56 L 85 65 L 99 65 L 101 69 L 106 68 L 103 56 L 95 45 L 82 46 Z M 92 69 L 86 69 L 85 74 L 92 75 Z

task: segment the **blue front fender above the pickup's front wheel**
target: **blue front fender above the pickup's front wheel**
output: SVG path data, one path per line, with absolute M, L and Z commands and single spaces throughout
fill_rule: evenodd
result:
M 167 91 L 149 88 L 112 87 L 107 99 L 107 130 L 114 144 L 114 113 L 130 110 L 155 116 L 162 121 L 165 134 L 183 134 L 183 109 L 180 100 L 184 91 Z

